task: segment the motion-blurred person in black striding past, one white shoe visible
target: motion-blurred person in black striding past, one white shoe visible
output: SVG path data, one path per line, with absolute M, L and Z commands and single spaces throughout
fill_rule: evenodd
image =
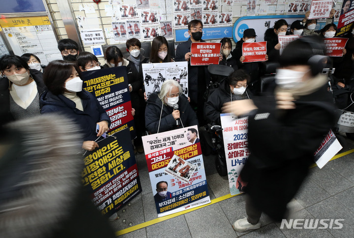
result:
M 274 97 L 223 107 L 248 116 L 250 156 L 240 173 L 248 182 L 247 218 L 233 223 L 238 232 L 260 228 L 262 212 L 275 221 L 286 218 L 287 204 L 307 176 L 314 151 L 334 125 L 333 99 L 322 74 L 324 52 L 318 37 L 291 42 L 280 56 Z

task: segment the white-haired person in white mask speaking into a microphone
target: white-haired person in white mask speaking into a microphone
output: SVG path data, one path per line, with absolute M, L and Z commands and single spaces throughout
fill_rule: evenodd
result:
M 198 125 L 195 112 L 174 79 L 164 81 L 160 93 L 150 95 L 145 121 L 148 132 L 153 134 Z

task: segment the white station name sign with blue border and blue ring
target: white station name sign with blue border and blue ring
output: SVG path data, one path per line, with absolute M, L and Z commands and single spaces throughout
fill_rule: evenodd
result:
M 302 20 L 303 15 L 278 15 L 278 16 L 248 16 L 239 18 L 233 29 L 233 38 L 237 42 L 243 37 L 243 31 L 253 28 L 256 31 L 256 41 L 264 41 L 264 33 L 267 28 L 274 26 L 274 23 L 280 19 L 285 19 L 289 26 L 296 20 Z M 204 38 L 203 38 L 204 39 Z

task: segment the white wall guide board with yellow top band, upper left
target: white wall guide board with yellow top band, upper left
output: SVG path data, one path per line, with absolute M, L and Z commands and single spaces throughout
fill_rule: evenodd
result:
M 33 53 L 44 65 L 62 59 L 48 16 L 2 17 L 0 26 L 14 54 Z

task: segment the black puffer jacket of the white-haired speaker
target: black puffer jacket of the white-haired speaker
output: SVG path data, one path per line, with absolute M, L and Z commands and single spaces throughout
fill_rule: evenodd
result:
M 189 105 L 187 98 L 182 94 L 179 95 L 178 99 L 178 110 L 180 113 L 180 120 L 184 127 L 198 125 L 198 119 L 193 111 L 192 107 Z M 162 114 L 161 114 L 161 107 Z M 148 132 L 157 133 L 159 122 L 160 128 L 158 132 L 167 132 L 181 128 L 182 125 L 177 127 L 176 120 L 174 119 L 172 112 L 173 107 L 167 106 L 162 103 L 161 99 L 158 97 L 157 93 L 153 93 L 148 98 L 148 105 L 145 111 L 145 125 Z M 161 114 L 161 121 L 160 121 Z

